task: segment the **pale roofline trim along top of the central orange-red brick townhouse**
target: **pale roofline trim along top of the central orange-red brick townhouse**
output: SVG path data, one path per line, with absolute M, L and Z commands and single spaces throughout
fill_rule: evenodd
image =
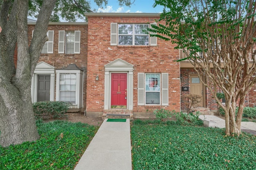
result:
M 85 12 L 84 15 L 88 16 L 116 16 L 116 17 L 159 17 L 160 13 L 105 13 L 105 12 Z

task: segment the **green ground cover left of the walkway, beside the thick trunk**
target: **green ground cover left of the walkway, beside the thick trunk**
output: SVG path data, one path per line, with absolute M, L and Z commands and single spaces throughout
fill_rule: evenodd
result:
M 0 147 L 1 170 L 73 170 L 98 127 L 84 123 L 37 123 L 36 142 Z

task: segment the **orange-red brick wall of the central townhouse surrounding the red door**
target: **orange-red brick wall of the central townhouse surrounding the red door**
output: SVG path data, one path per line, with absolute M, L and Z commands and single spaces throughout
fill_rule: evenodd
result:
M 118 58 L 134 65 L 133 111 L 146 112 L 161 106 L 138 106 L 138 72 L 168 73 L 169 106 L 180 111 L 179 51 L 169 41 L 157 39 L 157 46 L 110 46 L 110 23 L 153 23 L 155 17 L 90 16 L 88 18 L 87 112 L 104 111 L 104 65 Z M 95 80 L 96 75 L 99 81 Z

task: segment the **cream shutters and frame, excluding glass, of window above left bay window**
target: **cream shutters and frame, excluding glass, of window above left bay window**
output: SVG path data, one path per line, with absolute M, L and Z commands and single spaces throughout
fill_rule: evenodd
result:
M 80 54 L 80 38 L 81 38 L 81 31 L 69 30 L 74 31 L 74 53 L 68 54 Z M 58 41 L 58 53 L 59 54 L 67 54 L 66 52 L 66 32 L 64 30 L 59 30 L 59 41 Z

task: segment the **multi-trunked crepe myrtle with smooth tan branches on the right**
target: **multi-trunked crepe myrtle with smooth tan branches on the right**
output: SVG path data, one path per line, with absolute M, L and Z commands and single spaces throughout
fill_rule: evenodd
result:
M 256 83 L 255 0 L 155 0 L 164 7 L 150 31 L 183 49 L 201 82 L 225 111 L 226 135 L 241 134 L 244 100 Z M 163 23 L 163 24 L 161 24 Z M 223 105 L 217 97 L 220 88 Z M 238 113 L 236 115 L 236 106 Z

